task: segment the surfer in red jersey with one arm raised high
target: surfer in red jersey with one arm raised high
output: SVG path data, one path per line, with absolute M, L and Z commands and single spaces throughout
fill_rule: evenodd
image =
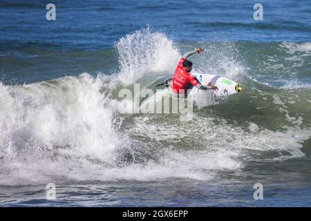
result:
M 180 59 L 178 66 L 175 70 L 173 76 L 172 90 L 178 95 L 185 95 L 187 97 L 188 90 L 191 90 L 194 86 L 200 90 L 213 89 L 218 90 L 215 85 L 211 85 L 211 82 L 207 86 L 202 85 L 196 77 L 193 77 L 190 72 L 192 70 L 192 62 L 187 60 L 187 58 L 196 53 L 201 53 L 203 49 L 201 47 L 196 48 L 196 50 L 185 53 Z M 164 83 L 165 84 L 165 83 Z

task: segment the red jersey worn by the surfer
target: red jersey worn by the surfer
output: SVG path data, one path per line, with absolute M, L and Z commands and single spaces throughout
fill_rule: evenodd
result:
M 189 84 L 193 84 L 194 86 L 198 85 L 198 81 L 187 71 L 182 68 L 182 62 L 185 61 L 185 57 L 180 59 L 178 66 L 175 70 L 174 77 L 173 77 L 173 92 L 180 93 L 180 89 L 187 93 L 187 88 Z

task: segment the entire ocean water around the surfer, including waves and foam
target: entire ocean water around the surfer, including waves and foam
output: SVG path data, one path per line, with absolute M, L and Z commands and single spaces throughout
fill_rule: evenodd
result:
M 51 3 L 0 2 L 0 206 L 311 206 L 310 1 Z M 243 92 L 120 113 L 197 46 Z

